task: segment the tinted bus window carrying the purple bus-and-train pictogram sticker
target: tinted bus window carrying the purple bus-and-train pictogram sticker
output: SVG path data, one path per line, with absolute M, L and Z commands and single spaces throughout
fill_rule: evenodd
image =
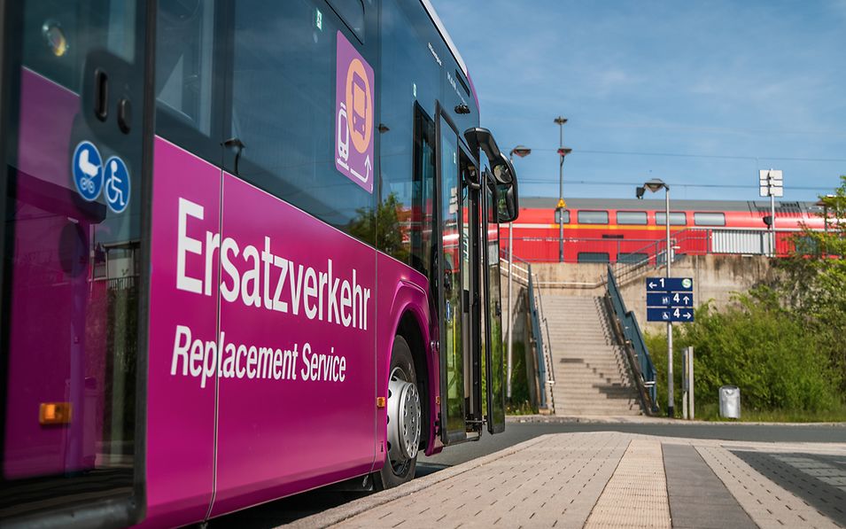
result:
M 374 244 L 376 188 L 362 189 L 336 168 L 336 71 L 338 39 L 352 45 L 334 12 L 314 27 L 314 3 L 291 0 L 234 4 L 231 132 L 244 145 L 232 173 Z M 362 93 L 376 87 L 352 77 L 350 135 L 374 138 L 373 107 Z M 363 137 L 362 136 L 362 137 Z M 375 141 L 375 140 L 371 140 Z M 351 145 L 352 147 L 352 145 Z M 366 175 L 373 178 L 376 160 Z

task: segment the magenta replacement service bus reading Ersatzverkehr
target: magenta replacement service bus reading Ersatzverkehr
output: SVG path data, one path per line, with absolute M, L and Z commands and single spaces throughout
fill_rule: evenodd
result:
M 427 0 L 0 17 L 0 525 L 202 523 L 503 431 L 516 177 Z

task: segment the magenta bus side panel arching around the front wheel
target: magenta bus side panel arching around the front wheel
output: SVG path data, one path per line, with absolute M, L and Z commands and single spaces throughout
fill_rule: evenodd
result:
M 426 455 L 437 454 L 443 445 L 435 432 L 435 428 L 429 425 L 435 424 L 438 420 L 439 406 L 435 404 L 436 395 L 440 394 L 440 368 L 438 354 L 431 351 L 431 340 L 437 339 L 437 324 L 431 324 L 431 307 L 429 303 L 429 281 L 422 274 L 413 268 L 400 263 L 384 255 L 378 254 L 377 267 L 379 277 L 383 280 L 379 285 L 379 307 L 376 328 L 376 365 L 378 366 L 377 380 L 379 381 L 378 396 L 388 396 L 388 376 L 391 368 L 391 350 L 393 337 L 400 325 L 400 318 L 409 311 L 415 316 L 423 338 L 423 350 L 426 351 L 426 368 L 428 370 L 429 385 L 426 387 L 427 401 L 429 405 L 429 416 L 423 417 L 423 435 L 427 430 L 429 435 L 426 443 Z M 390 278 L 390 280 L 388 279 Z M 414 348 L 412 346 L 412 348 Z M 421 374 L 417 374 L 418 380 Z M 381 469 L 384 464 L 387 451 L 387 408 L 379 409 L 376 418 L 376 469 Z

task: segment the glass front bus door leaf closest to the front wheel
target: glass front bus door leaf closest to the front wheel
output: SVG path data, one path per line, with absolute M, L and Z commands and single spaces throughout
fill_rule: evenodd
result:
M 477 162 L 439 118 L 440 432 L 444 444 L 482 431 Z M 477 185 L 476 185 L 477 187 Z

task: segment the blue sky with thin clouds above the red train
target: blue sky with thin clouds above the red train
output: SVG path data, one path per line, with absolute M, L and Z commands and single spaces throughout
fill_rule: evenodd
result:
M 431 0 L 523 197 L 816 200 L 846 175 L 846 0 Z M 647 193 L 664 199 L 664 193 Z M 650 197 L 647 197 L 650 198 Z

